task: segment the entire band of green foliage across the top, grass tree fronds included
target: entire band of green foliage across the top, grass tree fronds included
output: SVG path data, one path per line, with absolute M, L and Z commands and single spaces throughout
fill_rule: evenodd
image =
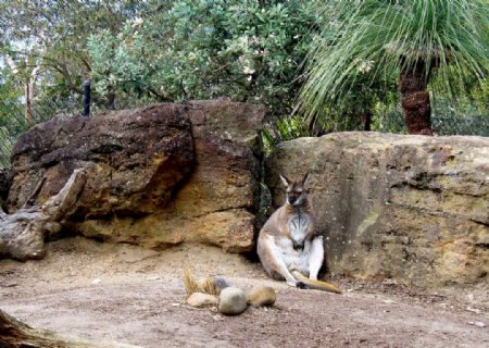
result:
M 0 64 L 0 98 L 21 100 L 38 69 L 39 108 L 80 110 L 87 78 L 96 111 L 220 97 L 265 104 L 268 148 L 360 129 L 361 114 L 373 130 L 403 132 L 397 80 L 418 60 L 435 116 L 487 116 L 487 0 L 4 0 L 0 55 L 16 72 Z M 301 113 L 284 117 L 304 76 Z M 466 98 L 454 104 L 451 94 Z

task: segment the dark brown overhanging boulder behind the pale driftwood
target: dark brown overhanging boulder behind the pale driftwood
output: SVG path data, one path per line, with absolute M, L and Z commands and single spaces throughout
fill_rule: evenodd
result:
M 86 167 L 79 219 L 148 214 L 171 202 L 172 190 L 193 164 L 190 121 L 177 105 L 54 117 L 24 133 L 14 146 L 9 206 L 20 208 L 47 177 L 37 201 L 42 202 L 74 169 Z

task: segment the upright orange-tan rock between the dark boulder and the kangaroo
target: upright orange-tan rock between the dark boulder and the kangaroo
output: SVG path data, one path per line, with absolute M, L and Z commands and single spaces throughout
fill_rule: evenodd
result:
M 264 109 L 227 101 L 188 107 L 196 149 L 196 169 L 176 195 L 165 234 L 222 246 L 226 251 L 253 248 L 259 202 Z M 185 217 L 185 219 L 183 219 Z M 151 223 L 151 222 L 150 222 Z

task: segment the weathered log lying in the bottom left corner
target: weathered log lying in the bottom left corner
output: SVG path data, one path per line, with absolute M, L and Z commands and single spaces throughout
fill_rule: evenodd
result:
M 0 310 L 0 348 L 135 348 L 116 343 L 92 343 L 53 332 L 36 330 Z

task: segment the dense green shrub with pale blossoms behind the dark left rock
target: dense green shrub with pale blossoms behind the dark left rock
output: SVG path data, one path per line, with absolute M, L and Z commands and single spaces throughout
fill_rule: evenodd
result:
M 97 92 L 125 100 L 229 97 L 288 114 L 317 24 L 313 2 L 175 1 L 90 36 Z

